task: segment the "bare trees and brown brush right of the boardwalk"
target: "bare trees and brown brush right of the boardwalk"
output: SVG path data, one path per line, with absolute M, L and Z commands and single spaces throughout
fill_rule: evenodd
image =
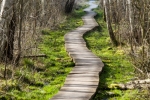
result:
M 137 71 L 143 77 L 149 77 L 150 1 L 100 0 L 100 5 L 104 9 L 109 32 L 113 25 L 114 37 L 120 45 L 126 44 L 126 51 Z M 111 36 L 110 38 L 115 40 Z M 114 44 L 113 41 L 112 43 Z

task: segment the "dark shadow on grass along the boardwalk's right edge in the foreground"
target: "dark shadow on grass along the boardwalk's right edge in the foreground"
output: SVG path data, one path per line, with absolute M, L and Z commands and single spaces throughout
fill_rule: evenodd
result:
M 111 89 L 108 87 L 108 81 L 110 77 L 113 77 L 115 74 L 114 69 L 109 66 L 109 62 L 103 62 L 104 67 L 102 72 L 100 73 L 100 81 L 97 89 L 97 94 L 93 100 L 109 100 L 111 97 L 118 97 L 120 94 L 110 92 Z

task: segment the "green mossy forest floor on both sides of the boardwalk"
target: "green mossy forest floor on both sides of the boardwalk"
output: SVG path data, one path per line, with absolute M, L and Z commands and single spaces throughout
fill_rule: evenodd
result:
M 102 88 L 134 80 L 136 75 L 130 58 L 122 47 L 115 48 L 111 45 L 103 13 L 96 11 L 100 27 L 85 36 L 89 49 L 102 58 L 105 64 L 94 100 L 149 100 L 147 90 Z M 59 91 L 67 74 L 74 67 L 65 51 L 64 35 L 83 25 L 81 17 L 84 14 L 82 9 L 75 10 L 58 28 L 41 31 L 43 38 L 39 48 L 47 58 L 23 59 L 20 67 L 8 66 L 7 81 L 3 78 L 4 65 L 0 64 L 0 100 L 48 100 Z

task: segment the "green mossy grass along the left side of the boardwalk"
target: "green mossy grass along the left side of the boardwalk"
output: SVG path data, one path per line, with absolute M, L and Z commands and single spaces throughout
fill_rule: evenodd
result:
M 26 58 L 21 61 L 20 67 L 10 69 L 13 78 L 3 79 L 0 83 L 0 100 L 48 100 L 59 91 L 74 67 L 65 51 L 64 35 L 83 24 L 83 15 L 82 9 L 75 10 L 57 28 L 42 30 L 39 48 L 47 57 Z

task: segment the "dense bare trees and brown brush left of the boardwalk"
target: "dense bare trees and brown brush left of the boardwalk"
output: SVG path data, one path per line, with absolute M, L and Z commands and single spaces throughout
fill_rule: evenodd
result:
M 0 62 L 19 63 L 38 54 L 41 28 L 54 29 L 70 13 L 75 0 L 1 0 Z

